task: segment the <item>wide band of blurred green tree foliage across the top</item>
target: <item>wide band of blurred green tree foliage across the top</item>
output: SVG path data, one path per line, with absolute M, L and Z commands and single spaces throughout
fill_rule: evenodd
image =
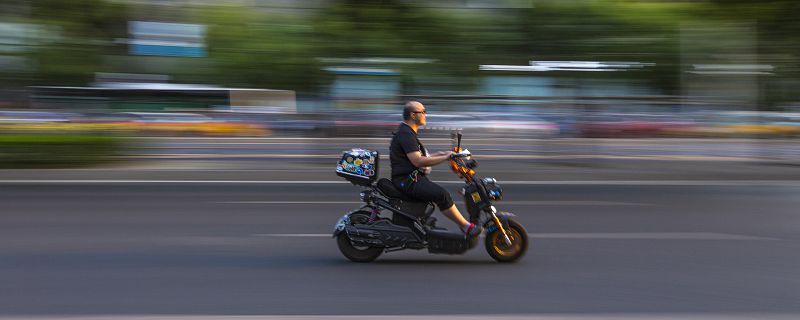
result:
M 404 75 L 406 90 L 445 82 L 469 92 L 479 64 L 638 61 L 656 66 L 643 72 L 591 76 L 634 78 L 663 93 L 679 94 L 685 67 L 680 65 L 685 50 L 682 27 L 743 23 L 755 28 L 758 63 L 775 66 L 774 76 L 761 79 L 767 94 L 764 103 L 800 98 L 787 89 L 800 78 L 797 1 L 548 0 L 522 9 L 419 4 L 334 0 L 306 14 L 285 14 L 232 3 L 162 10 L 165 6 L 158 4 L 111 0 L 31 1 L 29 18 L 58 33 L 57 40 L 37 48 L 32 57 L 40 83 L 85 84 L 94 72 L 120 72 L 120 65 L 137 65 L 104 63 L 103 56 L 125 56 L 126 46 L 114 40 L 126 37 L 127 21 L 157 19 L 208 25 L 208 58 L 167 58 L 166 63 L 154 64 L 172 66 L 158 69 L 182 82 L 315 95 L 324 92 L 332 77 L 320 57 L 396 57 L 435 60 L 390 66 Z M 714 45 L 713 40 L 706 45 Z

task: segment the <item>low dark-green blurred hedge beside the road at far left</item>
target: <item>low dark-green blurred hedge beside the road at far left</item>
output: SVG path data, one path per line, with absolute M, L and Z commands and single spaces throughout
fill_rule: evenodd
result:
M 0 135 L 0 168 L 61 168 L 107 162 L 123 140 L 98 135 Z

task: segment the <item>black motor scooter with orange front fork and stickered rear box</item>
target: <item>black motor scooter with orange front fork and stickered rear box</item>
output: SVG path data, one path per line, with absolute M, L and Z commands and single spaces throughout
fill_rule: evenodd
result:
M 502 199 L 502 188 L 494 178 L 476 176 L 478 162 L 469 150 L 461 148 L 461 138 L 460 132 L 453 135 L 454 154 L 449 165 L 464 181 L 461 194 L 469 221 L 483 226 L 489 256 L 499 262 L 518 261 L 528 249 L 528 233 L 514 214 L 495 208 L 493 203 Z M 433 203 L 411 199 L 389 179 L 378 179 L 378 160 L 377 151 L 352 149 L 343 153 L 336 166 L 338 176 L 364 187 L 364 205 L 342 216 L 333 231 L 347 259 L 370 262 L 383 253 L 405 249 L 463 254 L 477 246 L 477 236 L 467 237 L 461 231 L 436 226 Z

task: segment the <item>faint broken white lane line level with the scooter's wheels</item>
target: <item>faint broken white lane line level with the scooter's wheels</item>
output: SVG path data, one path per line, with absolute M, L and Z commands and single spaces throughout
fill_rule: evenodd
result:
M 254 237 L 331 237 L 332 233 L 259 233 Z M 591 232 L 591 233 L 528 233 L 534 239 L 605 239 L 605 240 L 755 240 L 777 241 L 778 238 L 756 237 L 714 232 Z

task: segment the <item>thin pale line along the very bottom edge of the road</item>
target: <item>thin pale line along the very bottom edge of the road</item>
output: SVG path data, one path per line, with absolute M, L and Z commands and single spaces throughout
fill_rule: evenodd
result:
M 800 313 L 601 313 L 601 314 L 480 314 L 480 315 L 56 315 L 0 316 L 0 320 L 796 320 Z

